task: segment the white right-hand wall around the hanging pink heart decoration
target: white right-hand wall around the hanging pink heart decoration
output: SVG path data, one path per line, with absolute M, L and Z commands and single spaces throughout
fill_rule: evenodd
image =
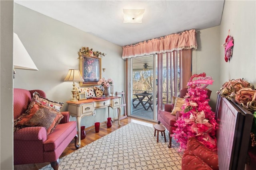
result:
M 220 48 L 220 82 L 245 78 L 256 86 L 256 1 L 225 1 L 220 25 L 220 45 L 228 35 L 234 37 L 232 59 L 224 61 L 224 48 Z M 221 84 L 221 85 L 222 85 Z

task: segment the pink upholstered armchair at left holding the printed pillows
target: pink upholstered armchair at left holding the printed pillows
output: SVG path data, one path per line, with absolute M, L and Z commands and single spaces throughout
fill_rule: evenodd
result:
M 14 88 L 14 119 L 25 113 L 35 91 L 46 98 L 42 90 Z M 74 138 L 78 149 L 76 121 L 69 121 L 68 111 L 61 113 L 64 117 L 49 135 L 45 127 L 24 127 L 14 132 L 14 165 L 50 162 L 58 170 L 60 155 Z

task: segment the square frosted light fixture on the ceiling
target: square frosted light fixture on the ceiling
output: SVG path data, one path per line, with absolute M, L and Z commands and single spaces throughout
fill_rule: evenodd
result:
M 145 9 L 123 9 L 124 23 L 142 23 L 143 14 Z

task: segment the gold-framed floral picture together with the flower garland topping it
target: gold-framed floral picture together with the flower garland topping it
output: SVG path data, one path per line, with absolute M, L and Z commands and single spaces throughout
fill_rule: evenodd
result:
M 89 47 L 82 47 L 78 52 L 79 71 L 84 79 L 80 86 L 96 85 L 101 78 L 101 58 L 105 53 L 92 51 Z

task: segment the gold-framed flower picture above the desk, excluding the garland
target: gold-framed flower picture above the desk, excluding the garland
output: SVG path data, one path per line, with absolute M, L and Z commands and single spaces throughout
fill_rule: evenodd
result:
M 97 83 L 101 78 L 101 59 L 98 57 L 80 57 L 79 71 L 84 79 L 84 82 L 80 82 L 80 86 L 98 85 Z

